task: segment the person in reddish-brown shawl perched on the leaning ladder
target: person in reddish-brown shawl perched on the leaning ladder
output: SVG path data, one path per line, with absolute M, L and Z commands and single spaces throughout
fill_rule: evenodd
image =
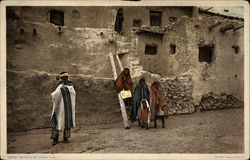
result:
M 130 91 L 132 94 L 133 81 L 130 76 L 130 71 L 128 68 L 124 68 L 124 70 L 120 73 L 120 75 L 115 80 L 115 87 L 118 93 L 121 91 Z M 132 106 L 132 97 L 124 99 L 126 107 Z

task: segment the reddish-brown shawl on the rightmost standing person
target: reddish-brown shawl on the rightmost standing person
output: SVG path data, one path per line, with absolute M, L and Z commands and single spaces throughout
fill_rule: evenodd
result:
M 156 86 L 157 87 L 156 87 Z M 162 107 L 164 115 L 168 115 L 167 103 L 165 96 L 160 89 L 158 82 L 154 82 L 150 87 L 150 109 L 151 109 L 151 119 L 154 120 L 156 113 L 159 110 L 159 107 Z

